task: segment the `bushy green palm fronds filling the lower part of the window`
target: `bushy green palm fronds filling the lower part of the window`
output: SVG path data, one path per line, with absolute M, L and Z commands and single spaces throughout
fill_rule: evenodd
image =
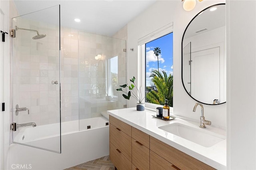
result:
M 172 107 L 173 101 L 173 76 L 170 74 L 167 76 L 165 71 L 162 71 L 163 75 L 157 71 L 151 71 L 150 77 L 154 83 L 156 90 L 151 90 L 146 94 L 146 100 L 148 103 L 155 103 L 158 105 L 164 105 L 165 99 L 168 100 L 168 104 Z

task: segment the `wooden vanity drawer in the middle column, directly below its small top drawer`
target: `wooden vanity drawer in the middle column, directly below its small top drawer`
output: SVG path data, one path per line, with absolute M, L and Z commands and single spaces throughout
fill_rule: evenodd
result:
M 139 170 L 149 170 L 149 148 L 132 139 L 132 163 Z

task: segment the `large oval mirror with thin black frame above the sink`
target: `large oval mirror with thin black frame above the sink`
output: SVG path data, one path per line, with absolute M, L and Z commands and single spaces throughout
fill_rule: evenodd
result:
M 226 102 L 225 4 L 199 12 L 182 37 L 182 83 L 190 97 L 206 105 Z

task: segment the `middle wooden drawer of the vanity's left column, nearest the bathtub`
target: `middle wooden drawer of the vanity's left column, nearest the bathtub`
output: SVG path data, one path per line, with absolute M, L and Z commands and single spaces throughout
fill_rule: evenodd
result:
M 132 161 L 132 138 L 110 123 L 110 142 Z

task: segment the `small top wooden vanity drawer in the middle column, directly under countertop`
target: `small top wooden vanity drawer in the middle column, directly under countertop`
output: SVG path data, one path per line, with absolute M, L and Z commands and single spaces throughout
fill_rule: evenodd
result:
M 132 127 L 132 138 L 149 148 L 149 135 Z

